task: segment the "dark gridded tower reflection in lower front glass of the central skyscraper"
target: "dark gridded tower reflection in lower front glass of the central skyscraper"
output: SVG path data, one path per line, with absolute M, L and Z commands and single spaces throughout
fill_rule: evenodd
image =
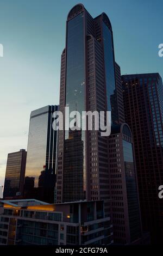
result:
M 65 140 L 64 152 L 64 202 L 70 202 L 72 199 L 74 201 L 85 199 L 82 131 L 69 132 L 69 137 Z

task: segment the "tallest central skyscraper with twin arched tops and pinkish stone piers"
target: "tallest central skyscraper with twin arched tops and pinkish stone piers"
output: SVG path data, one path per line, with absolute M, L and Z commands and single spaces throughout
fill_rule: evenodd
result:
M 67 16 L 61 54 L 60 111 L 111 111 L 118 123 L 112 28 L 105 13 L 95 19 L 83 4 Z M 57 202 L 110 199 L 108 138 L 99 131 L 59 131 Z M 67 186 L 68 184 L 68 186 Z M 109 210 L 108 210 L 109 211 Z

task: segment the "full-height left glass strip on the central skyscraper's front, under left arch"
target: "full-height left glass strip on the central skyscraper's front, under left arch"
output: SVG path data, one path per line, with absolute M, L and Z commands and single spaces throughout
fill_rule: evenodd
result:
M 84 15 L 67 23 L 66 107 L 85 110 Z M 71 119 L 70 119 L 71 121 Z M 65 132 L 64 202 L 86 198 L 85 131 Z

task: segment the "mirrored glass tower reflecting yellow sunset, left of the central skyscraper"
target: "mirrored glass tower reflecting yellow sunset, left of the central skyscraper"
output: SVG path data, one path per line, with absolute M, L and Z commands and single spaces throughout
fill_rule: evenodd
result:
M 58 106 L 46 106 L 30 114 L 24 196 L 54 202 L 57 131 L 52 127 Z

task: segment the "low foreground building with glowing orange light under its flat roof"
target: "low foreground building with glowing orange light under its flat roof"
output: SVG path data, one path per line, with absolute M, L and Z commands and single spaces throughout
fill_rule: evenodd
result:
M 0 201 L 0 245 L 110 245 L 104 202 Z

